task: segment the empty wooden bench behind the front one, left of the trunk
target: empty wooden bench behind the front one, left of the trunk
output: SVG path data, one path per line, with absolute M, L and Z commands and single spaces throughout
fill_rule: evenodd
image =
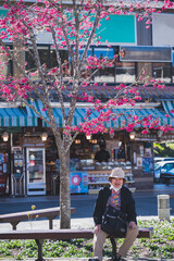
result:
M 75 208 L 71 208 L 71 213 L 74 212 Z M 10 223 L 13 229 L 16 229 L 16 225 L 21 221 L 32 221 L 40 217 L 47 217 L 49 220 L 49 229 L 52 229 L 53 219 L 55 219 L 58 215 L 60 215 L 60 207 L 1 214 L 0 223 Z

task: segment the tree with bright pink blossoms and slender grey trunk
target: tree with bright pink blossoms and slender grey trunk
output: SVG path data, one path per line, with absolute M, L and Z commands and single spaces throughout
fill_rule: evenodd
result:
M 0 18 L 0 66 L 1 80 L 0 88 L 2 99 L 9 102 L 21 101 L 24 105 L 32 108 L 52 129 L 58 147 L 61 163 L 60 173 L 60 207 L 61 207 L 61 228 L 71 226 L 71 198 L 70 198 L 70 148 L 78 133 L 112 133 L 113 129 L 105 129 L 104 123 L 113 122 L 120 116 L 113 113 L 113 109 L 121 104 L 134 107 L 140 100 L 137 85 L 138 80 L 146 83 L 145 71 L 133 85 L 124 84 L 115 86 L 116 96 L 105 103 L 86 94 L 88 85 L 91 84 L 92 75 L 102 66 L 111 66 L 119 55 L 124 55 L 122 50 L 112 61 L 107 57 L 98 59 L 88 55 L 91 45 L 100 46 L 100 24 L 102 20 L 109 21 L 110 15 L 121 15 L 136 13 L 139 21 L 147 18 L 147 28 L 152 23 L 152 13 L 161 12 L 166 8 L 172 8 L 169 0 L 164 2 L 154 0 L 147 1 L 107 1 L 107 0 L 36 0 L 36 1 L 4 1 L 3 8 L 7 15 Z M 157 9 L 158 8 L 158 9 Z M 120 25 L 117 25 L 120 26 Z M 42 33 L 48 33 L 55 50 L 58 66 L 49 67 L 41 63 L 37 41 Z M 12 44 L 11 46 L 8 44 Z M 107 42 L 105 42 L 107 44 Z M 107 44 L 108 45 L 108 44 Z M 108 48 L 110 46 L 108 45 Z M 69 61 L 62 61 L 60 50 L 65 49 L 69 53 Z M 80 54 L 79 54 L 80 51 Z M 27 69 L 24 59 L 27 53 L 35 64 L 34 69 Z M 4 76 L 4 71 L 9 62 L 14 65 L 13 76 Z M 70 66 L 71 63 L 71 66 Z M 84 77 L 84 72 L 88 76 Z M 161 82 L 151 80 L 154 87 L 163 87 Z M 149 84 L 149 82 L 148 82 Z M 103 83 L 103 86 L 105 83 Z M 79 88 L 84 88 L 84 94 L 79 97 Z M 65 109 L 64 96 L 69 90 L 71 99 L 69 112 Z M 41 100 L 47 110 L 48 119 L 36 110 L 33 104 L 33 94 Z M 53 116 L 50 102 L 51 94 L 57 96 L 63 115 L 63 130 L 61 130 Z M 78 126 L 73 126 L 73 117 L 78 101 L 92 104 L 87 109 L 84 122 Z M 94 111 L 98 112 L 98 117 L 89 120 Z M 129 124 L 123 124 L 123 128 L 128 132 L 140 123 L 140 119 L 133 116 Z M 157 127 L 157 120 L 149 119 L 142 122 L 144 130 L 149 127 Z M 167 129 L 170 126 L 167 126 Z

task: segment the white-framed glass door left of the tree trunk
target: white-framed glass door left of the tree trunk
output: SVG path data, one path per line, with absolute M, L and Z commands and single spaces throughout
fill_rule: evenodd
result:
M 27 195 L 46 195 L 45 149 L 27 148 Z

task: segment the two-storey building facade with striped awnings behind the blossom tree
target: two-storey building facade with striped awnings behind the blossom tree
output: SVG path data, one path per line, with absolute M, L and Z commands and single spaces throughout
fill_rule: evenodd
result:
M 5 15 L 5 10 L 1 9 L 1 15 Z M 144 72 L 144 77 L 147 77 L 147 86 L 140 83 L 138 91 L 141 97 L 140 102 L 136 102 L 133 108 L 120 107 L 114 110 L 120 116 L 115 122 L 109 122 L 107 127 L 113 127 L 113 136 L 107 134 L 96 134 L 90 139 L 87 139 L 85 134 L 77 136 L 72 146 L 72 159 L 78 158 L 79 165 L 76 171 L 91 172 L 96 178 L 97 174 L 92 173 L 97 167 L 99 172 L 107 170 L 110 172 L 113 167 L 113 162 L 127 162 L 123 164 L 124 169 L 132 164 L 129 173 L 129 185 L 133 182 L 133 187 L 137 189 L 153 187 L 153 141 L 173 140 L 173 130 L 163 134 L 154 126 L 148 134 L 141 134 L 142 125 L 137 125 L 130 137 L 126 130 L 121 130 L 123 125 L 126 126 L 132 120 L 134 113 L 140 119 L 151 116 L 157 119 L 160 126 L 174 126 L 174 37 L 173 24 L 174 14 L 170 11 L 165 13 L 153 14 L 152 25 L 148 25 L 147 20 L 138 22 L 135 14 L 132 15 L 112 15 L 110 21 L 101 24 L 101 41 L 102 45 L 91 46 L 88 51 L 89 55 L 96 55 L 98 59 L 107 57 L 108 65 L 98 70 L 97 74 L 91 77 L 91 84 L 86 87 L 86 91 L 92 97 L 99 98 L 101 101 L 107 101 L 111 97 L 115 97 L 115 85 L 133 84 L 139 79 L 139 75 Z M 115 26 L 121 25 L 121 26 Z M 146 28 L 148 25 L 148 28 Z M 105 45 L 108 40 L 108 45 Z M 50 34 L 44 32 L 38 35 L 38 50 L 41 63 L 48 67 L 58 66 L 55 60 L 55 50 L 52 47 Z M 10 48 L 15 48 L 17 42 L 7 41 Z M 82 55 L 79 50 L 79 55 Z M 64 66 L 64 77 L 69 77 L 71 73 L 71 59 L 65 49 L 60 50 L 62 61 L 67 61 Z M 109 62 L 116 57 L 112 66 Z M 5 58 L 4 58 L 5 59 Z M 22 64 L 27 63 L 27 70 L 33 70 L 33 63 L 28 53 L 21 54 Z M 84 70 L 84 78 L 92 74 L 91 70 Z M 3 69 L 4 77 L 17 74 L 17 69 L 12 62 L 9 62 Z M 159 80 L 165 84 L 165 87 L 154 87 L 150 84 L 150 79 Z M 33 78 L 38 80 L 36 76 Z M 94 85 L 97 83 L 97 86 Z M 103 87 L 102 84 L 105 84 Z M 83 88 L 79 89 L 79 96 L 83 94 Z M 47 111 L 42 110 L 42 103 L 37 97 L 33 97 L 36 110 L 46 119 Z M 62 112 L 59 100 L 52 95 L 51 97 L 54 117 L 58 126 L 63 126 Z M 64 102 L 70 102 L 69 88 Z M 86 104 L 79 102 L 76 108 L 73 124 L 77 125 L 84 121 L 86 113 Z M 97 113 L 91 115 L 94 119 Z M 150 120 L 149 120 L 150 121 Z M 1 102 L 0 108 L 0 134 L 1 134 L 1 194 L 10 195 L 45 195 L 59 192 L 59 156 L 54 146 L 54 138 L 49 128 L 49 125 L 42 121 L 28 107 L 15 104 L 15 108 L 9 108 L 9 104 Z M 103 138 L 107 148 L 111 154 L 111 162 L 105 166 L 96 166 L 94 162 L 95 153 L 99 149 L 99 140 Z M 119 159 L 117 152 L 120 147 L 124 145 L 124 158 Z M 75 151 L 77 154 L 75 156 Z M 84 160 L 84 162 L 83 162 Z M 72 161 L 74 162 L 74 161 Z M 74 163 L 72 163 L 73 165 Z M 83 165 L 84 164 L 84 165 Z M 73 166 L 72 166 L 73 167 Z M 96 169 L 95 169 L 96 167 Z M 128 167 L 127 167 L 128 169 Z M 129 170 L 129 169 L 128 169 Z M 72 169 L 74 172 L 75 170 Z M 89 187 L 95 192 L 100 185 L 104 185 L 103 181 L 91 182 Z M 90 176 L 91 175 L 91 176 Z M 134 176 L 134 178 L 132 178 Z M 97 185 L 96 185 L 96 184 Z

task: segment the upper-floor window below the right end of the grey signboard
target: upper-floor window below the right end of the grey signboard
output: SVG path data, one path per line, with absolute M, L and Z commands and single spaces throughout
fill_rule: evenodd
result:
M 164 83 L 171 83 L 171 63 L 153 63 L 152 76 Z

